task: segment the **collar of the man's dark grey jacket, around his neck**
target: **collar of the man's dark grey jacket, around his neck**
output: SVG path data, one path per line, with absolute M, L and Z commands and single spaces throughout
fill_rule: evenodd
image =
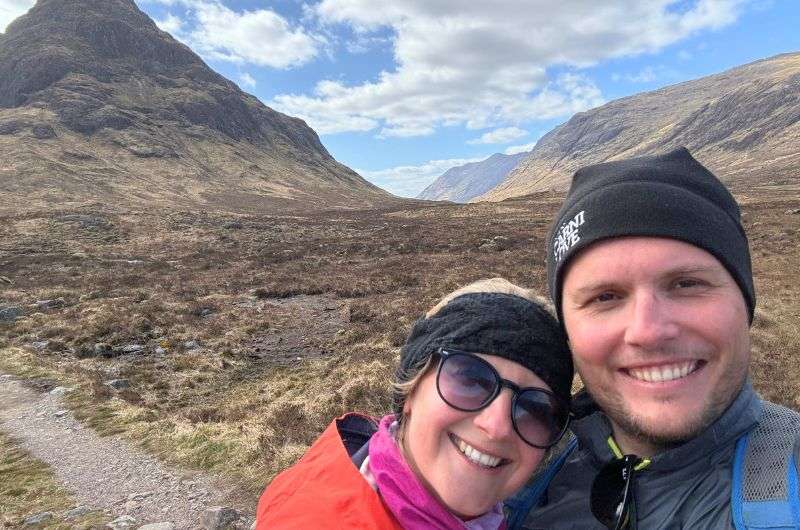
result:
M 588 396 L 576 396 L 576 402 L 580 406 L 579 418 L 572 423 L 572 432 L 577 436 L 581 448 L 589 452 L 599 467 L 615 458 L 608 446 L 611 425 Z M 650 459 L 651 464 L 647 469 L 666 471 L 682 468 L 700 458 L 718 454 L 720 448 L 726 445 L 733 447 L 736 440 L 758 424 L 762 408 L 761 398 L 748 379 L 722 416 L 699 436 L 655 455 Z

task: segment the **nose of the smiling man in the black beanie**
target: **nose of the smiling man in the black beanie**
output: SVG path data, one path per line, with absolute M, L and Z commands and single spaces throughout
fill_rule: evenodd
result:
M 643 349 L 658 349 L 678 335 L 673 308 L 658 292 L 644 290 L 632 295 L 625 342 Z

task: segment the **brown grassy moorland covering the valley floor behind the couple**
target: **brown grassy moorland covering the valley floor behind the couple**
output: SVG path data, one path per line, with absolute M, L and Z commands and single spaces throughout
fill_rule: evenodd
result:
M 800 197 L 742 198 L 759 299 L 753 380 L 800 408 L 800 215 L 785 213 Z M 545 294 L 558 204 L 238 216 L 237 229 L 208 212 L 70 212 L 102 219 L 91 231 L 64 212 L 0 218 L 0 268 L 14 282 L 0 299 L 27 312 L 0 324 L 0 369 L 65 378 L 101 432 L 255 494 L 332 418 L 389 410 L 399 346 L 441 296 L 493 276 Z M 507 248 L 481 247 L 498 235 Z M 66 307 L 30 307 L 57 297 Z M 103 357 L 95 343 L 145 349 Z M 130 388 L 104 384 L 115 378 Z

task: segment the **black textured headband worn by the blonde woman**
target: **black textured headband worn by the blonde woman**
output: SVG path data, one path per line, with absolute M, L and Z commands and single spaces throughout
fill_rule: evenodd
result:
M 555 318 L 542 306 L 505 293 L 469 293 L 414 323 L 400 351 L 395 381 L 410 381 L 439 348 L 496 355 L 528 368 L 556 396 L 570 402 L 572 356 Z M 395 393 L 402 415 L 404 396 Z

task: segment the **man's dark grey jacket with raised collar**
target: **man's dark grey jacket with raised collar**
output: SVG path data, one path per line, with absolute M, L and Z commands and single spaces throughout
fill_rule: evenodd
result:
M 746 383 L 728 410 L 697 438 L 658 454 L 637 471 L 635 513 L 639 530 L 730 529 L 732 462 L 736 441 L 759 422 L 762 401 Z M 525 528 L 604 530 L 589 509 L 592 480 L 614 458 L 611 429 L 600 412 L 572 425 L 578 447 L 550 483 L 543 505 L 534 508 Z M 794 444 L 800 462 L 800 436 Z

